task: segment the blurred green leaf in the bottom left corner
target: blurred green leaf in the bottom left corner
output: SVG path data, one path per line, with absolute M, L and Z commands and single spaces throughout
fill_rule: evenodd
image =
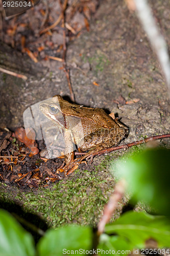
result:
M 0 210 L 0 256 L 34 256 L 33 237 L 5 210 Z

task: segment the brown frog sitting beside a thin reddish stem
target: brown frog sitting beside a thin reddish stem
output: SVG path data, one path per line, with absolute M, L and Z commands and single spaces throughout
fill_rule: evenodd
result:
M 64 136 L 65 164 L 74 160 L 74 144 L 83 152 L 96 152 L 117 145 L 129 133 L 104 110 L 69 103 L 60 95 L 44 100 L 39 108 Z

